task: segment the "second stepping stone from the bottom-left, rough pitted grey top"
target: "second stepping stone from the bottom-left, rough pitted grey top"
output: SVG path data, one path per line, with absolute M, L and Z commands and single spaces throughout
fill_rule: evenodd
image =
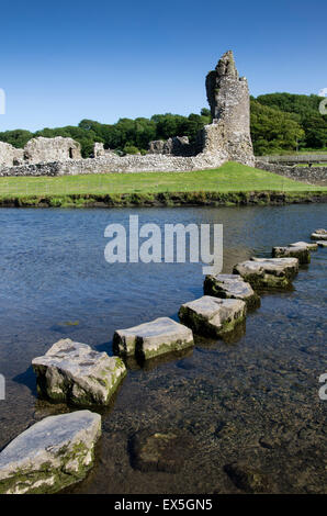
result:
M 76 405 L 108 405 L 126 374 L 120 358 L 70 338 L 58 340 L 32 366 L 41 396 Z

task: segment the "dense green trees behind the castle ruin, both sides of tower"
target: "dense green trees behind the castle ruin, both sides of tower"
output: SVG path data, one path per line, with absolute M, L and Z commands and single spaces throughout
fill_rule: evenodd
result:
M 251 97 L 251 137 L 256 155 L 280 154 L 297 149 L 327 147 L 327 115 L 318 110 L 322 98 L 291 93 L 269 93 Z M 188 136 L 194 142 L 198 132 L 211 123 L 210 110 L 200 114 L 155 114 L 150 119 L 120 119 L 115 124 L 82 120 L 78 126 L 43 128 L 31 133 L 24 130 L 0 133 L 0 141 L 24 147 L 29 139 L 44 136 L 71 137 L 81 144 L 82 156 L 92 155 L 94 142 L 117 154 L 146 154 L 153 139 Z

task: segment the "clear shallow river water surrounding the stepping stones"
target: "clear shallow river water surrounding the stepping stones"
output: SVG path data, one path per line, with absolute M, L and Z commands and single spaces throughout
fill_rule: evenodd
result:
M 223 223 L 224 271 L 273 245 L 308 240 L 327 226 L 324 204 L 277 207 L 0 210 L 0 448 L 35 420 L 66 411 L 35 395 L 31 360 L 63 336 L 111 354 L 114 329 L 172 316 L 202 295 L 202 267 L 109 265 L 105 226 Z M 235 344 L 198 341 L 180 360 L 129 371 L 103 414 L 98 460 L 76 493 L 233 493 L 224 472 L 234 461 L 269 474 L 271 492 L 324 492 L 327 251 L 312 253 L 294 292 L 264 295 Z M 67 322 L 79 322 L 68 326 Z M 324 427 L 325 425 L 325 427 Z M 180 428 L 194 439 L 180 473 L 131 465 L 139 429 Z

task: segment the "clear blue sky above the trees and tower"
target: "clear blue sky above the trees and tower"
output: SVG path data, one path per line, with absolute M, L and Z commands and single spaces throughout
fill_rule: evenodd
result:
M 16 0 L 0 12 L 0 131 L 196 113 L 229 48 L 253 96 L 327 87 L 326 1 Z

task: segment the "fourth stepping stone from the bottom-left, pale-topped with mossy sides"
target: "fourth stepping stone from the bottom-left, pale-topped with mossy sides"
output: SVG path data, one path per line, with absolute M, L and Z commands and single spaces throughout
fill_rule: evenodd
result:
M 182 304 L 178 315 L 180 321 L 198 335 L 224 337 L 245 321 L 246 303 L 241 300 L 203 295 Z

